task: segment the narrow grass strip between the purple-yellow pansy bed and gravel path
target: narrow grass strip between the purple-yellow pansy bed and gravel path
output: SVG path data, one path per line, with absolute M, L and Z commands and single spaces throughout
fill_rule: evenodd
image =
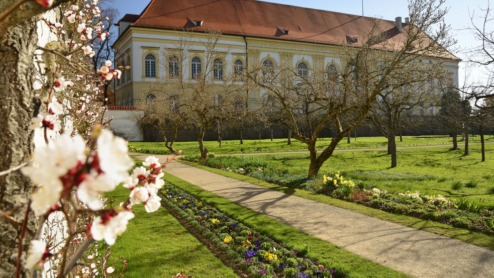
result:
M 195 195 L 203 202 L 219 208 L 230 217 L 283 243 L 285 246 L 297 249 L 301 248 L 303 244 L 309 245 L 311 247 L 311 251 L 308 254 L 309 257 L 320 260 L 324 265 L 331 265 L 331 267 L 341 269 L 347 273 L 347 277 L 409 277 L 396 270 L 361 258 L 351 252 L 301 232 L 268 216 L 237 205 L 226 198 L 218 197 L 211 192 L 204 191 L 173 175 L 165 173 L 165 179 L 187 193 Z

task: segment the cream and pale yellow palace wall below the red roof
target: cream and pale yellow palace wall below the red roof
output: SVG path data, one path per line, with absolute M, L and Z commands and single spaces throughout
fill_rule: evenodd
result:
M 178 40 L 183 37 L 183 31 L 160 30 L 130 27 L 118 43 L 114 46 L 116 51 L 116 63 L 118 65 L 129 65 L 130 70 L 123 73 L 122 79 L 116 85 L 116 105 L 133 106 L 141 101 L 148 93 L 151 82 L 166 81 L 167 76 L 167 49 L 176 49 Z M 183 78 L 190 78 L 190 60 L 199 56 L 203 61 L 203 72 L 205 61 L 202 53 L 206 50 L 203 42 L 207 35 L 204 33 L 193 34 L 192 47 L 187 61 L 182 64 Z M 345 61 L 341 56 L 341 49 L 332 45 L 321 45 L 314 43 L 282 41 L 264 38 L 250 38 L 241 36 L 223 35 L 219 41 L 217 51 L 226 52 L 224 74 L 233 71 L 233 62 L 236 59 L 244 61 L 244 68 L 253 68 L 264 60 L 270 59 L 275 64 L 286 63 L 295 67 L 300 62 L 305 62 L 309 71 L 322 70 L 330 64 L 335 65 L 339 72 L 345 67 Z M 153 54 L 156 57 L 156 77 L 145 77 L 144 57 Z M 429 61 L 424 61 L 429 62 Z M 458 62 L 445 61 L 453 83 L 458 86 Z M 220 81 L 219 81 L 220 82 Z M 261 89 L 249 90 L 249 106 L 256 106 L 260 102 L 265 91 Z M 435 103 L 430 108 L 418 110 L 420 115 L 435 115 L 439 107 Z M 121 122 L 122 124 L 124 122 Z M 123 128 L 123 127 L 122 127 Z M 140 135 L 142 136 L 142 135 Z M 137 137 L 133 137 L 137 138 Z

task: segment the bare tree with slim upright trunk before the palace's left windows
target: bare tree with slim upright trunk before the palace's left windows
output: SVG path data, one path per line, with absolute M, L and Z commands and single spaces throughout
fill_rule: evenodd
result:
M 217 31 L 208 31 L 199 39 L 205 49 L 201 58 L 190 56 L 195 42 L 191 33 L 183 32 L 174 49 L 163 50 L 168 76 L 160 81 L 161 93 L 165 99 L 176 99 L 184 117 L 199 127 L 197 142 L 202 158 L 207 157 L 203 143 L 206 130 L 214 125 L 218 128 L 218 124 L 243 113 L 237 104 L 246 103 L 247 98 L 242 76 L 225 70 L 230 49 L 219 47 L 221 36 Z M 185 80 L 184 68 L 188 69 L 189 63 L 191 76 Z

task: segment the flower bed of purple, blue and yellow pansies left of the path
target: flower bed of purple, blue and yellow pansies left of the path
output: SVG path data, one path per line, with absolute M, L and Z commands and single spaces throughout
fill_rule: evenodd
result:
M 342 277 L 334 269 L 307 258 L 308 249 L 287 249 L 170 183 L 165 183 L 161 194 L 165 207 L 174 210 L 248 276 Z

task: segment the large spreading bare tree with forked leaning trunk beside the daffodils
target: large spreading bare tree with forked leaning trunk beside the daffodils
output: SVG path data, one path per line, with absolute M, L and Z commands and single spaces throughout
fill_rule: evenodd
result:
M 290 120 L 293 137 L 307 145 L 311 163 L 308 176 L 317 175 L 337 144 L 367 116 L 376 98 L 385 90 L 406 85 L 401 79 L 423 63 L 425 57 L 454 58 L 445 47 L 454 43 L 443 23 L 444 1 L 411 0 L 410 21 L 400 40 L 393 40 L 379 20 L 369 19 L 370 31 L 358 42 L 342 43 L 341 73 L 260 65 L 249 79 L 275 99 L 274 105 Z M 436 57 L 436 58 L 432 58 Z M 343 124 L 342 118 L 349 120 Z M 299 126 L 303 119 L 304 126 Z M 316 143 L 323 128 L 336 130 L 331 143 L 318 154 Z

